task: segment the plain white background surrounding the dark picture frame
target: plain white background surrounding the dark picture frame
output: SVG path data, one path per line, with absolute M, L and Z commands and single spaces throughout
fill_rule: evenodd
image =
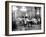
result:
M 36 35 L 5 36 L 5 1 L 46 3 L 46 0 L 0 0 L 0 37 L 46 37 L 46 32 L 45 34 L 36 34 Z M 45 11 L 45 18 L 46 18 L 46 11 Z M 46 19 L 45 19 L 45 22 L 46 22 Z M 45 23 L 45 31 L 46 31 L 46 23 Z

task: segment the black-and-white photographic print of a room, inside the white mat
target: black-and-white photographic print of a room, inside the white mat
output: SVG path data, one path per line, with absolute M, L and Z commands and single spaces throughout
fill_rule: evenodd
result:
M 12 31 L 40 30 L 41 7 L 12 6 Z

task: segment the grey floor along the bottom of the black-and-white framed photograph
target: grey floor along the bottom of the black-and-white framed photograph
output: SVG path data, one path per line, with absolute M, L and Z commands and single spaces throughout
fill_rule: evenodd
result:
M 18 29 L 16 31 L 24 31 L 24 30 L 40 30 L 41 26 L 40 25 L 32 25 L 29 27 L 24 27 L 24 26 L 19 26 Z

